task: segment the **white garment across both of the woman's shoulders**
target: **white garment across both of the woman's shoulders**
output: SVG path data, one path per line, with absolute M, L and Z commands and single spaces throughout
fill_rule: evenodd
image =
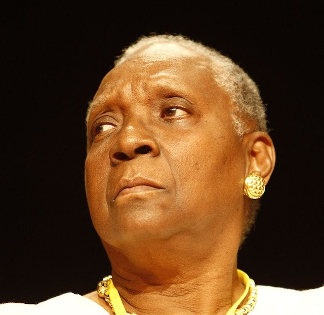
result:
M 297 291 L 257 286 L 258 300 L 251 315 L 324 314 L 324 286 Z M 100 305 L 74 293 L 65 293 L 38 304 L 0 304 L 0 315 L 107 315 Z M 174 314 L 176 315 L 176 314 Z

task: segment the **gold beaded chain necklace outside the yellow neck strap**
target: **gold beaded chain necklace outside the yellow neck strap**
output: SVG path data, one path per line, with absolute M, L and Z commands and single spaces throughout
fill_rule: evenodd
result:
M 108 275 L 107 277 L 103 278 L 97 286 L 97 293 L 99 297 L 102 297 L 105 299 L 105 301 L 110 306 L 111 310 L 115 313 L 110 297 L 109 297 L 109 282 L 112 281 L 111 275 Z M 258 289 L 255 284 L 255 282 L 250 279 L 249 283 L 249 297 L 246 304 L 241 306 L 240 308 L 237 308 L 233 315 L 246 315 L 250 313 L 250 311 L 254 308 L 255 304 L 257 303 L 258 298 Z M 126 312 L 126 315 L 137 315 L 136 313 L 128 313 Z

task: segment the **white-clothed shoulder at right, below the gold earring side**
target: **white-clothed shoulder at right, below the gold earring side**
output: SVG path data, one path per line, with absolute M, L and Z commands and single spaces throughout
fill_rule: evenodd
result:
M 258 300 L 254 311 L 255 315 L 315 314 L 322 310 L 323 299 L 324 286 L 308 290 L 258 286 Z

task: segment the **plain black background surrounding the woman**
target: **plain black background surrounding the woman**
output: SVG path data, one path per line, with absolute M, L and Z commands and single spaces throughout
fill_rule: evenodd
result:
M 321 9 L 213 3 L 1 1 L 0 302 L 85 294 L 109 274 L 85 199 L 85 112 L 114 56 L 152 31 L 230 56 L 268 104 L 277 163 L 239 268 L 324 283 Z

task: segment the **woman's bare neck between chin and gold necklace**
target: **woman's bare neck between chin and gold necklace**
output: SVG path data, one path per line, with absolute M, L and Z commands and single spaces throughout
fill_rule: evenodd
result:
M 127 311 L 138 315 L 226 314 L 244 291 L 236 271 L 238 245 L 214 244 L 213 251 L 210 247 L 207 251 L 206 246 L 176 244 L 174 240 L 145 242 L 145 246 L 120 251 L 104 243 L 114 285 Z

